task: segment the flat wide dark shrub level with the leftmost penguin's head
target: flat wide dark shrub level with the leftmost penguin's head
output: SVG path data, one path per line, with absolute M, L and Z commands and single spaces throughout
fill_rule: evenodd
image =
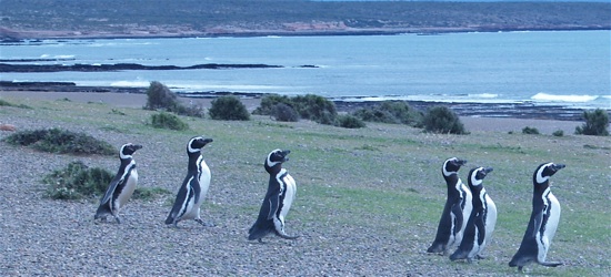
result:
M 74 133 L 60 129 L 20 131 L 4 138 L 13 145 L 60 154 L 100 154 L 114 155 L 117 151 L 107 142 L 99 141 L 84 133 Z

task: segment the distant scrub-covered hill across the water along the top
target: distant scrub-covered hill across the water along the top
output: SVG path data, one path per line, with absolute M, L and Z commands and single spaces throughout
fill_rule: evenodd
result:
M 1 0 L 0 39 L 611 30 L 609 2 Z

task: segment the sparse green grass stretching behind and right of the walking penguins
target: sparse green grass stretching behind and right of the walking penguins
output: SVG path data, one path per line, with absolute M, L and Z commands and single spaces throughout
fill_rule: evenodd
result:
M 11 103 L 19 105 L 22 101 L 16 99 Z M 563 163 L 567 167 L 551 178 L 552 191 L 562 205 L 562 217 L 548 259 L 562 260 L 567 265 L 553 269 L 529 266 L 529 275 L 600 276 L 611 271 L 608 258 L 611 247 L 611 137 L 507 133 L 441 135 L 379 123 L 368 123 L 368 127 L 359 130 L 309 121 L 279 124 L 268 116 L 253 116 L 243 122 L 179 116 L 189 122 L 191 129 L 173 132 L 147 126 L 154 113 L 151 111 L 66 101 L 30 101 L 28 104 L 31 110 L 7 109 L 32 121 L 47 120 L 122 133 L 157 147 L 144 147 L 143 153 L 180 153 L 177 154 L 179 165 L 166 161 L 166 156 L 154 163 L 142 161 L 143 154 L 139 153 L 138 162 L 148 166 L 139 168 L 141 176 L 160 165 L 182 173 L 188 137 L 207 135 L 214 138 L 204 148 L 213 172 L 210 197 L 216 203 L 206 204 L 204 209 L 214 213 L 246 214 L 243 216 L 249 218 L 256 215 L 267 187 L 268 175 L 261 166 L 264 156 L 273 148 L 289 148 L 292 152 L 286 167 L 298 183 L 298 198 L 287 218 L 288 224 L 293 224 L 290 230 L 297 228 L 296 224 L 321 229 L 335 226 L 330 232 L 367 229 L 377 237 L 405 244 L 404 254 L 401 254 L 405 260 L 434 263 L 440 268 L 465 275 L 515 274 L 507 263 L 517 250 L 529 219 L 532 173 L 544 162 Z M 484 254 L 492 258 L 477 266 L 422 254 L 434 238 L 445 199 L 440 167 L 451 156 L 469 161 L 460 172 L 464 182 L 471 167 L 494 167 L 484 181 L 499 209 L 495 234 Z M 220 172 L 223 174 L 218 174 Z M 178 187 L 180 177 L 168 187 Z M 240 192 L 242 201 L 226 199 L 228 192 Z M 173 201 L 172 194 L 163 197 Z

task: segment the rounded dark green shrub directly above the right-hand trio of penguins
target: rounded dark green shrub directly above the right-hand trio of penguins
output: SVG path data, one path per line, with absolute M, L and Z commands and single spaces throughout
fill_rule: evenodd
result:
M 459 116 L 447 106 L 433 106 L 422 117 L 424 131 L 432 133 L 467 134 Z

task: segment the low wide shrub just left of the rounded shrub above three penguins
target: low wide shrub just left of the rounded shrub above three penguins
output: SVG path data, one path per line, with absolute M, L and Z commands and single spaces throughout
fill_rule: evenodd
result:
M 373 107 L 363 107 L 354 111 L 352 115 L 362 121 L 382 122 L 392 124 L 415 125 L 422 115 L 411 109 L 405 102 L 384 101 Z

